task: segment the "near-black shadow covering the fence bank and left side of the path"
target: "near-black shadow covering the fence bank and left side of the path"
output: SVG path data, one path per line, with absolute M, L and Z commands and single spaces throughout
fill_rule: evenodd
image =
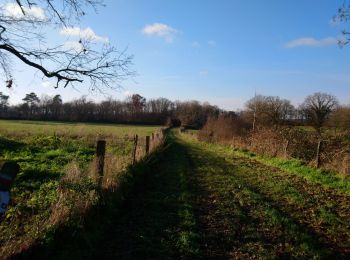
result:
M 137 163 L 83 223 L 60 227 L 14 259 L 196 258 L 187 163 L 177 145 Z

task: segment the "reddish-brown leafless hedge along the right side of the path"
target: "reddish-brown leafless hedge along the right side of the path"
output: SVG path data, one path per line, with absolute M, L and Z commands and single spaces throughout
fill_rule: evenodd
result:
M 239 118 L 219 117 L 209 119 L 198 138 L 230 144 L 260 155 L 295 158 L 311 166 L 317 166 L 318 161 L 318 166 L 323 169 L 350 174 L 349 130 L 329 131 L 322 136 L 315 131 L 290 126 L 260 127 L 252 131 Z

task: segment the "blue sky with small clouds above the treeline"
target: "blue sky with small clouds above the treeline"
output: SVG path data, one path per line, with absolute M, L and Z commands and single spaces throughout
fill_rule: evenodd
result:
M 209 101 L 236 110 L 256 91 L 298 105 L 317 91 L 350 103 L 350 46 L 337 39 L 349 24 L 334 24 L 342 0 L 109 0 L 80 27 L 134 55 L 137 76 L 108 95 Z M 65 40 L 50 32 L 53 42 Z M 18 65 L 16 63 L 16 65 Z M 18 102 L 30 91 L 62 94 L 64 100 L 89 94 L 86 86 L 55 90 L 38 74 L 16 66 Z M 91 99 L 105 95 L 92 93 Z

